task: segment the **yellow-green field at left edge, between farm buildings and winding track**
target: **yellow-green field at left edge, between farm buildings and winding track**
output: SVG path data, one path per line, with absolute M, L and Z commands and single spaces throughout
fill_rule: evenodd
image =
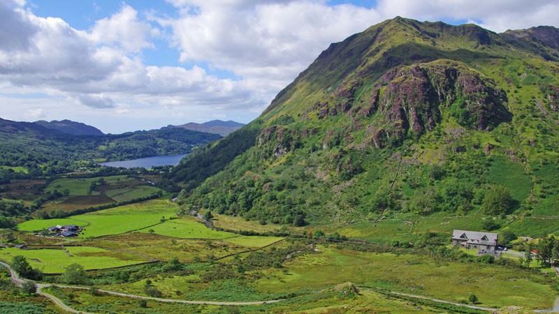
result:
M 126 252 L 107 251 L 91 246 L 68 246 L 64 249 L 20 250 L 19 248 L 1 248 L 0 258 L 10 262 L 16 255 L 27 257 L 29 264 L 47 274 L 63 273 L 69 264 L 80 264 L 85 269 L 105 269 L 121 267 L 148 260 Z

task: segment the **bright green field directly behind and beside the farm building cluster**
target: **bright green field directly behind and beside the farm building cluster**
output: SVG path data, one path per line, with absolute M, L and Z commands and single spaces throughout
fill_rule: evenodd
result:
M 28 220 L 17 227 L 23 231 L 44 230 L 51 225 L 75 223 L 85 227 L 81 237 L 101 237 L 142 229 L 176 216 L 178 207 L 167 200 L 150 200 L 64 219 Z

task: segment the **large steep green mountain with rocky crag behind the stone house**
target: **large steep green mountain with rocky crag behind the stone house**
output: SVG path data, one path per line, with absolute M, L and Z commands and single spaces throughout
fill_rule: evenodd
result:
M 395 17 L 330 45 L 258 119 L 168 179 L 184 204 L 273 223 L 473 215 L 472 228 L 495 217 L 549 232 L 558 36 Z

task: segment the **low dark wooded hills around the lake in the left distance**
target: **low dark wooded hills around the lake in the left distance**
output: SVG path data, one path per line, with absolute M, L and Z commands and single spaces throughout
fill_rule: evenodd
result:
M 41 175 L 41 172 L 64 172 L 73 163 L 81 161 L 101 162 L 188 154 L 194 147 L 219 138 L 221 136 L 217 134 L 182 128 L 119 135 L 71 135 L 37 123 L 0 119 L 0 165 L 24 166 L 28 170 L 33 169 L 34 172 L 30 173 L 36 176 Z

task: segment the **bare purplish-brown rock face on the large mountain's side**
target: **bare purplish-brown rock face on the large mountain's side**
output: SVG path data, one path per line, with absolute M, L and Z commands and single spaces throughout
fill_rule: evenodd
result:
M 421 63 L 391 70 L 372 92 L 370 112 L 378 112 L 388 137 L 409 131 L 421 135 L 440 122 L 441 111 L 452 109 L 463 126 L 486 130 L 511 120 L 504 107 L 507 96 L 481 74 L 453 62 Z M 455 105 L 453 105 L 455 104 Z M 451 106 L 455 106 L 452 107 Z M 382 147 L 382 132 L 375 130 L 375 146 Z

